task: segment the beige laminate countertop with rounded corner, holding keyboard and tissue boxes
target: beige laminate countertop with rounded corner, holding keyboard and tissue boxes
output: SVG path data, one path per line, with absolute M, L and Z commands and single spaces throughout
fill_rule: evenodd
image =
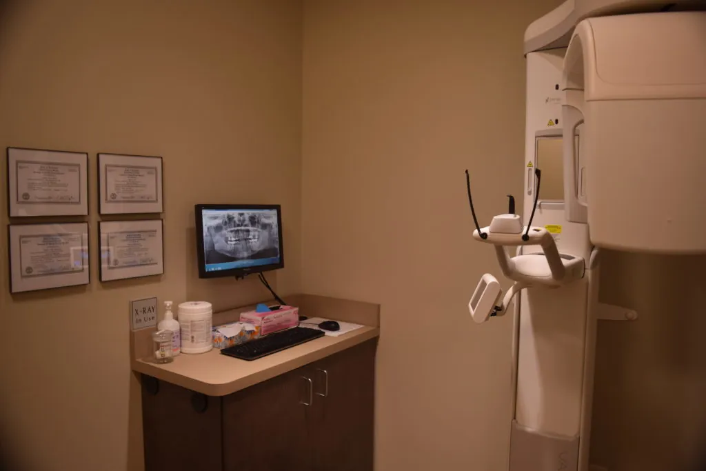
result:
M 132 369 L 198 393 L 222 396 L 328 357 L 378 335 L 379 328 L 366 326 L 339 337 L 326 335 L 252 362 L 222 355 L 214 348 L 202 354 L 182 353 L 174 358 L 174 362 L 167 364 L 151 363 L 148 359 L 133 360 Z

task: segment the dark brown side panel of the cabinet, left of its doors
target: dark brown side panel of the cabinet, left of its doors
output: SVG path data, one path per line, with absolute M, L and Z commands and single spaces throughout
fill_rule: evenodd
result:
M 145 471 L 221 469 L 221 398 L 142 376 Z

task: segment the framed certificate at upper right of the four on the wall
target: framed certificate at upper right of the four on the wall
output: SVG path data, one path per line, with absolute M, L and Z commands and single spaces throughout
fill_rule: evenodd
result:
M 162 213 L 162 157 L 98 154 L 101 214 Z

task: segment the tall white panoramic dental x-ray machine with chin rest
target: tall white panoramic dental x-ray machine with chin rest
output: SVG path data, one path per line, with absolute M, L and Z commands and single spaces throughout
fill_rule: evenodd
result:
M 532 23 L 527 224 L 510 196 L 508 213 L 480 227 L 467 173 L 473 237 L 494 246 L 514 282 L 503 297 L 483 275 L 470 314 L 478 323 L 502 316 L 520 293 L 510 471 L 589 470 L 597 320 L 637 318 L 598 302 L 599 250 L 706 253 L 706 12 L 698 9 L 703 2 L 569 0 Z

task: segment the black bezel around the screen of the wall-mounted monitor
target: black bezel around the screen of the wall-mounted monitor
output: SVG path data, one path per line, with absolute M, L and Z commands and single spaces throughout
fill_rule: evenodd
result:
M 269 263 L 268 265 L 250 266 L 244 268 L 232 268 L 230 270 L 207 271 L 205 253 L 203 251 L 203 210 L 277 210 L 277 233 L 280 238 L 280 262 Z M 198 260 L 198 278 L 224 278 L 234 276 L 237 278 L 250 275 L 251 273 L 263 273 L 265 271 L 279 270 L 285 268 L 285 244 L 282 239 L 282 206 L 268 204 L 197 204 L 193 209 L 196 219 L 196 251 Z

